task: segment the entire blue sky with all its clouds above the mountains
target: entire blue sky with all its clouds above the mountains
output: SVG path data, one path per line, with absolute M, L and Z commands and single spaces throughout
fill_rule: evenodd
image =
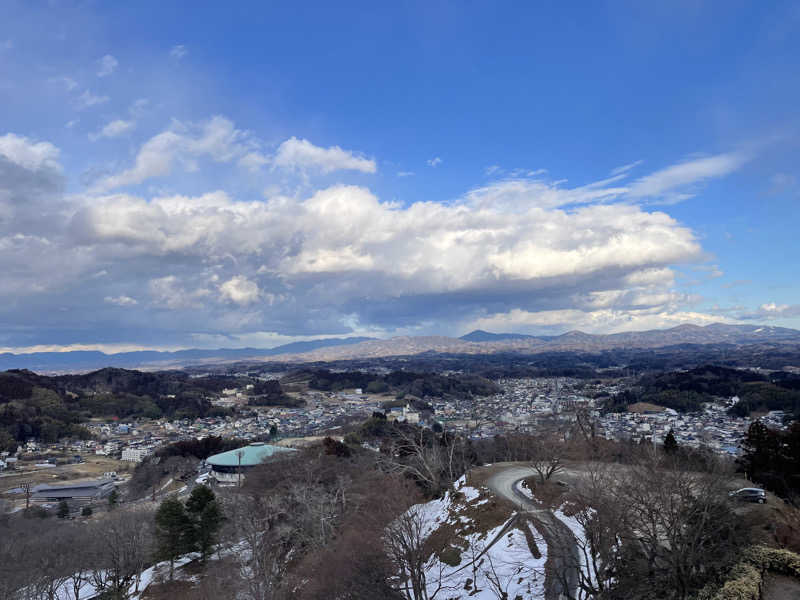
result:
M 800 328 L 797 2 L 0 2 L 0 351 Z

